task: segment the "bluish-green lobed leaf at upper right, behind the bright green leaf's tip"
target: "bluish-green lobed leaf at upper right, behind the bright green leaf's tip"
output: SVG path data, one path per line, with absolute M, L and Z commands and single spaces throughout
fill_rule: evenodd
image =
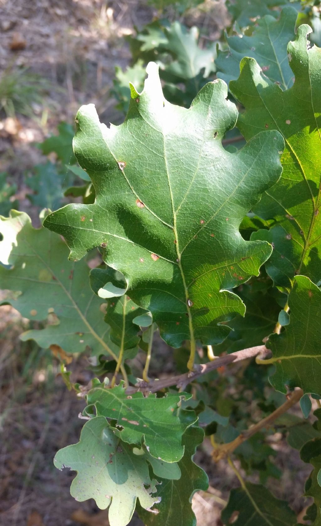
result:
M 261 67 L 264 75 L 287 89 L 293 84 L 293 73 L 287 60 L 287 43 L 295 38 L 297 11 L 293 7 L 284 7 L 279 19 L 271 15 L 257 21 L 250 36 L 225 35 L 229 45 L 227 51 L 218 50 L 215 60 L 217 76 L 229 85 L 240 75 L 240 62 L 243 57 L 252 57 Z

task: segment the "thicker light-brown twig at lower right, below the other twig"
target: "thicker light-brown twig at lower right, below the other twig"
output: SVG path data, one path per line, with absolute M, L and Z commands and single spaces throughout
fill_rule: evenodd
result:
M 302 389 L 297 389 L 288 396 L 287 400 L 282 404 L 282 406 L 278 407 L 275 411 L 273 411 L 273 413 L 263 418 L 263 420 L 260 420 L 260 422 L 257 422 L 250 429 L 243 431 L 238 437 L 232 440 L 232 442 L 227 444 L 216 444 L 212 453 L 213 459 L 217 462 L 222 458 L 229 457 L 238 446 L 252 437 L 253 434 L 257 433 L 261 429 L 272 426 L 274 420 L 281 416 L 281 414 L 285 413 L 289 408 L 294 406 L 294 404 L 299 401 L 302 395 Z

